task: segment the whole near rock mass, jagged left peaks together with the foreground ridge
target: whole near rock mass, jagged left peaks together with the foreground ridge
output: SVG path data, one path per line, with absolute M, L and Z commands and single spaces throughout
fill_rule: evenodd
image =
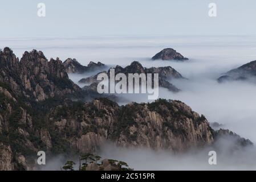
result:
M 38 151 L 47 158 L 74 156 L 112 142 L 183 152 L 218 137 L 204 115 L 181 101 L 125 106 L 107 98 L 84 102 L 87 93 L 68 78 L 62 61 L 47 61 L 41 51 L 25 52 L 19 61 L 5 48 L 0 65 L 0 170 L 38 169 Z M 249 143 L 241 141 L 242 146 Z

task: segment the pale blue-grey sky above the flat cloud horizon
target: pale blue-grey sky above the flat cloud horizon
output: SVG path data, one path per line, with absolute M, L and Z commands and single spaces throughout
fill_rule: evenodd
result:
M 45 3 L 46 17 L 37 16 Z M 209 3 L 217 17 L 208 16 Z M 0 0 L 0 38 L 256 35 L 255 0 Z

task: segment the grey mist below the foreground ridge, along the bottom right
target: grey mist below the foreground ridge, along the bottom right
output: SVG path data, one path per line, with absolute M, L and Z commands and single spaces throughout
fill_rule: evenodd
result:
M 174 154 L 170 151 L 153 151 L 148 148 L 121 148 L 112 143 L 101 147 L 100 156 L 127 162 L 135 170 L 255 170 L 256 148 L 254 146 L 235 150 L 233 139 L 217 140 L 213 146 L 191 148 Z M 209 164 L 209 152 L 216 151 L 217 164 Z

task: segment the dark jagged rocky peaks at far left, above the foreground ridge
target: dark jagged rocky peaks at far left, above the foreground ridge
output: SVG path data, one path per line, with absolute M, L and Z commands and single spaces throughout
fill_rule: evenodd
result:
M 0 64 L 0 82 L 10 84 L 13 92 L 20 96 L 43 101 L 80 92 L 68 78 L 62 61 L 58 58 L 48 61 L 42 51 L 26 51 L 18 62 L 10 48 L 5 48 Z

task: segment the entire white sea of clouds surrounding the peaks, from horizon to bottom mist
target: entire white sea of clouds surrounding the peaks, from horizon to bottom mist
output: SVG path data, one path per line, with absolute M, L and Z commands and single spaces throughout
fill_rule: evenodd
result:
M 140 61 L 148 68 L 171 66 L 188 80 L 170 80 L 182 91 L 174 94 L 160 88 L 161 98 L 185 102 L 194 111 L 204 114 L 209 122 L 222 123 L 225 129 L 256 143 L 256 85 L 247 82 L 219 84 L 216 81 L 222 73 L 256 60 L 255 40 L 256 37 L 252 36 L 102 36 L 76 39 L 1 39 L 0 47 L 12 48 L 18 57 L 24 51 L 38 49 L 48 59 L 60 57 L 64 61 L 71 57 L 83 65 L 90 61 L 101 61 L 108 67 L 124 67 L 132 61 Z M 167 47 L 176 49 L 190 60 L 182 63 L 151 60 L 152 56 Z M 73 74 L 70 78 L 78 83 L 80 78 L 93 74 L 95 72 L 86 75 Z M 133 94 L 123 97 L 128 101 L 120 102 L 120 105 L 132 101 L 148 102 L 146 96 Z M 221 146 L 225 148 L 226 144 Z M 136 169 L 211 169 L 207 163 L 208 150 L 182 156 L 174 156 L 166 151 L 113 151 L 111 147 L 104 147 L 103 151 L 104 156 L 125 160 Z M 212 169 L 255 169 L 256 160 L 251 160 L 255 159 L 254 151 L 250 149 L 247 153 L 242 151 L 237 155 L 222 152 L 220 158 L 221 161 L 226 161 L 225 164 Z

